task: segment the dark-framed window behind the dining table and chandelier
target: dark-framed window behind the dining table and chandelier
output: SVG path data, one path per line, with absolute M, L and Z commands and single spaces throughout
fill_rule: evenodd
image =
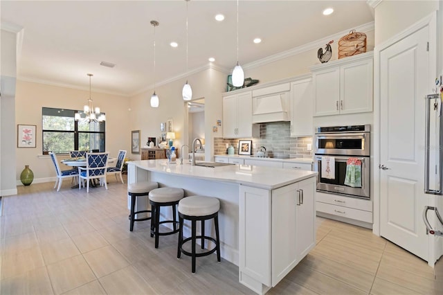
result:
M 105 152 L 105 122 L 75 121 L 72 109 L 42 108 L 43 154 L 71 150 Z

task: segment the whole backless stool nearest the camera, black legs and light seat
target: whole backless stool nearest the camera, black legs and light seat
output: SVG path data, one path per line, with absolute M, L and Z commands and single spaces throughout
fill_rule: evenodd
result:
M 219 210 L 220 201 L 215 197 L 190 196 L 185 197 L 179 202 L 179 247 L 177 249 L 177 258 L 181 253 L 191 256 L 192 273 L 195 273 L 195 258 L 207 256 L 217 251 L 217 261 L 220 262 L 220 240 L 219 240 Z M 205 235 L 205 221 L 214 219 L 215 239 Z M 183 240 L 183 220 L 191 221 L 191 236 Z M 201 222 L 201 235 L 197 235 L 197 221 Z M 215 243 L 215 247 L 202 253 L 196 253 L 195 241 L 201 238 L 201 249 L 204 249 L 204 240 L 211 240 Z M 191 252 L 183 249 L 183 244 L 191 241 Z

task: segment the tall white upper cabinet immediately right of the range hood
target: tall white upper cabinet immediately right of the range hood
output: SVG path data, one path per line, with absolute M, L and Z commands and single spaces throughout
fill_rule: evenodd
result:
M 314 129 L 312 79 L 291 83 L 291 136 L 312 136 Z

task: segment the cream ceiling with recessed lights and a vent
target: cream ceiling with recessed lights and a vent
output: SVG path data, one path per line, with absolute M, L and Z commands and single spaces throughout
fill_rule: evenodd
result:
M 334 13 L 323 16 L 325 8 Z M 237 1 L 0 1 L 2 28 L 18 28 L 17 78 L 131 96 L 210 65 L 237 62 Z M 215 15 L 225 15 L 215 21 Z M 156 69 L 154 75 L 154 27 Z M 366 1 L 239 1 L 239 63 L 374 21 Z M 260 37 L 262 42 L 254 44 Z M 170 42 L 179 46 L 172 48 Z M 116 64 L 114 68 L 100 62 Z

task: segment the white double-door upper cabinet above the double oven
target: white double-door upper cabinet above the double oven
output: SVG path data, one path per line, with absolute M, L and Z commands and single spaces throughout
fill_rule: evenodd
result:
M 311 66 L 314 116 L 372 111 L 373 53 Z

